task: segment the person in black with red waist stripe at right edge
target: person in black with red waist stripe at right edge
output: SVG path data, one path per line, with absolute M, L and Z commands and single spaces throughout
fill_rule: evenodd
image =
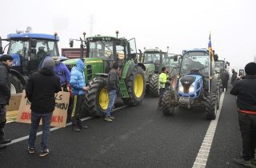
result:
M 234 83 L 230 94 L 237 96 L 238 122 L 242 135 L 242 158 L 234 162 L 251 166 L 256 148 L 256 63 L 245 67 L 246 76 Z

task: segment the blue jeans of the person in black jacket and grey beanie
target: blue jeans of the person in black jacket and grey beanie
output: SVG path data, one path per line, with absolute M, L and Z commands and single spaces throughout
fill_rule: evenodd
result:
M 29 146 L 34 147 L 34 142 L 37 138 L 37 131 L 40 119 L 42 118 L 42 141 L 41 141 L 41 150 L 46 150 L 48 140 L 50 137 L 50 121 L 51 113 L 40 114 L 31 112 L 31 127 L 30 127 L 30 137 L 29 137 Z

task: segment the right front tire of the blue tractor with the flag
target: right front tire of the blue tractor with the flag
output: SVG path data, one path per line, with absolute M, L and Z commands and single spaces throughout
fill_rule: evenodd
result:
M 217 114 L 217 94 L 206 95 L 206 119 L 214 120 Z

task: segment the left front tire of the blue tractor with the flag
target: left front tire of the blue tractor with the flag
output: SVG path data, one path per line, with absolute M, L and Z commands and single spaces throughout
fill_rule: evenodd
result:
M 175 107 L 172 104 L 174 102 L 174 91 L 173 90 L 165 90 L 162 95 L 162 113 L 165 115 L 173 115 L 175 114 Z

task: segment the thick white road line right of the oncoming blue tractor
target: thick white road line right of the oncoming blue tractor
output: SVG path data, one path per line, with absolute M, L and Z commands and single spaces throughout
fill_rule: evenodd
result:
M 202 141 L 200 150 L 198 151 L 197 158 L 195 158 L 193 168 L 205 168 L 208 156 L 210 154 L 210 146 L 214 139 L 214 133 L 218 124 L 218 117 L 222 111 L 222 104 L 224 100 L 225 92 L 222 92 L 219 109 L 217 110 L 216 119 L 210 122 L 210 126 L 206 132 L 205 138 Z

